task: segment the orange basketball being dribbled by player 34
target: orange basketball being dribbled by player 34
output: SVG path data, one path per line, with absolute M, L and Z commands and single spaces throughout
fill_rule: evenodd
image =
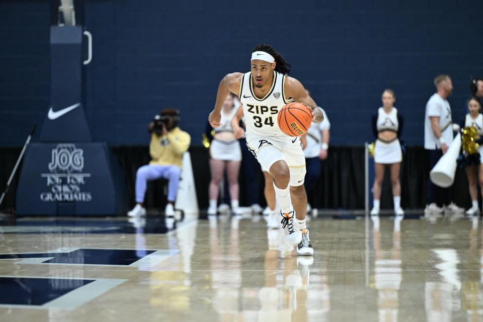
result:
M 288 103 L 278 112 L 278 126 L 290 136 L 305 134 L 312 123 L 312 112 L 302 103 Z

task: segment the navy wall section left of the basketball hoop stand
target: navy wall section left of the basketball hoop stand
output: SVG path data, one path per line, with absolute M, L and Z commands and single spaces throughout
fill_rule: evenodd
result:
M 0 145 L 22 145 L 48 111 L 49 21 L 48 1 L 0 2 Z

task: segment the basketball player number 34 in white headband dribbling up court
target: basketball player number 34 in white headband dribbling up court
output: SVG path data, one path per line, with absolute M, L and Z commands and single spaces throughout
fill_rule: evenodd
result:
M 305 157 L 299 138 L 285 135 L 278 127 L 277 114 L 285 104 L 299 102 L 312 111 L 313 122 L 322 122 L 324 115 L 315 108 L 317 105 L 302 84 L 287 75 L 290 69 L 291 65 L 272 46 L 257 45 L 252 52 L 251 71 L 230 73 L 221 80 L 208 120 L 211 126 L 220 126 L 226 96 L 230 92 L 238 95 L 247 126 L 247 146 L 273 177 L 287 241 L 298 245 L 298 255 L 311 256 L 313 249 L 305 223 Z

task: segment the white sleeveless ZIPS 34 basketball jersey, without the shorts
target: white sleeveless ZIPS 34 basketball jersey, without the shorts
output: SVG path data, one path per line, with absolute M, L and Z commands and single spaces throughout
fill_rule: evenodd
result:
M 285 74 L 273 71 L 273 83 L 264 98 L 254 95 L 252 72 L 243 75 L 240 84 L 239 99 L 243 105 L 247 137 L 252 136 L 284 136 L 278 127 L 278 111 L 287 103 L 293 101 L 286 98 L 283 92 Z

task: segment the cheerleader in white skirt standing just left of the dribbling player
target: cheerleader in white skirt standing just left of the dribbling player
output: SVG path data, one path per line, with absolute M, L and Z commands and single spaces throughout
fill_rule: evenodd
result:
M 221 125 L 216 128 L 210 127 L 214 134 L 210 144 L 211 181 L 209 185 L 208 215 L 216 215 L 219 186 L 221 180 L 223 180 L 225 169 L 228 177 L 231 211 L 234 214 L 240 214 L 238 208 L 238 173 L 240 170 L 241 149 L 231 127 L 231 120 L 235 116 L 236 111 L 234 96 L 228 95 L 221 109 Z

